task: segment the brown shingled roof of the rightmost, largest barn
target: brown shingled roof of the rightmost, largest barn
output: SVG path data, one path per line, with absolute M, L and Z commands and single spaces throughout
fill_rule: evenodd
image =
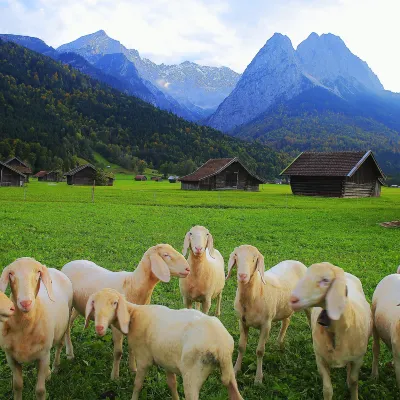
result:
M 368 157 L 372 157 L 382 178 L 385 178 L 371 150 L 325 153 L 305 151 L 295 158 L 281 175 L 350 177 Z

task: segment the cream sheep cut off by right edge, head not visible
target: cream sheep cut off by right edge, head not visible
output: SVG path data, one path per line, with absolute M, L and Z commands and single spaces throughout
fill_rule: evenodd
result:
M 392 351 L 397 385 L 400 388 L 400 275 L 388 275 L 375 289 L 372 297 L 373 362 L 372 376 L 378 378 L 380 339 Z

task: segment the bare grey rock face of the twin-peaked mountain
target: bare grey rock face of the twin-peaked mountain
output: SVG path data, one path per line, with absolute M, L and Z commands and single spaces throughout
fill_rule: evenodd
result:
M 339 37 L 313 33 L 295 50 L 288 37 L 275 34 L 254 57 L 208 124 L 225 132 L 237 129 L 275 104 L 313 87 L 343 99 L 383 93 L 378 77 Z

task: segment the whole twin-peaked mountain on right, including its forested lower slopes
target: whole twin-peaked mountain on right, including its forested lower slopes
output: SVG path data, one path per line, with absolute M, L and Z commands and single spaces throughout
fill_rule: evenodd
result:
M 385 171 L 400 171 L 400 94 L 332 34 L 297 50 L 275 34 L 207 123 L 293 156 L 372 149 Z

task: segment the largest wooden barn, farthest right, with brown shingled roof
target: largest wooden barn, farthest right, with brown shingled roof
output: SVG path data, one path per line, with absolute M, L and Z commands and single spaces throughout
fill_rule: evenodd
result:
M 281 175 L 295 195 L 379 197 L 385 175 L 372 151 L 303 152 Z

